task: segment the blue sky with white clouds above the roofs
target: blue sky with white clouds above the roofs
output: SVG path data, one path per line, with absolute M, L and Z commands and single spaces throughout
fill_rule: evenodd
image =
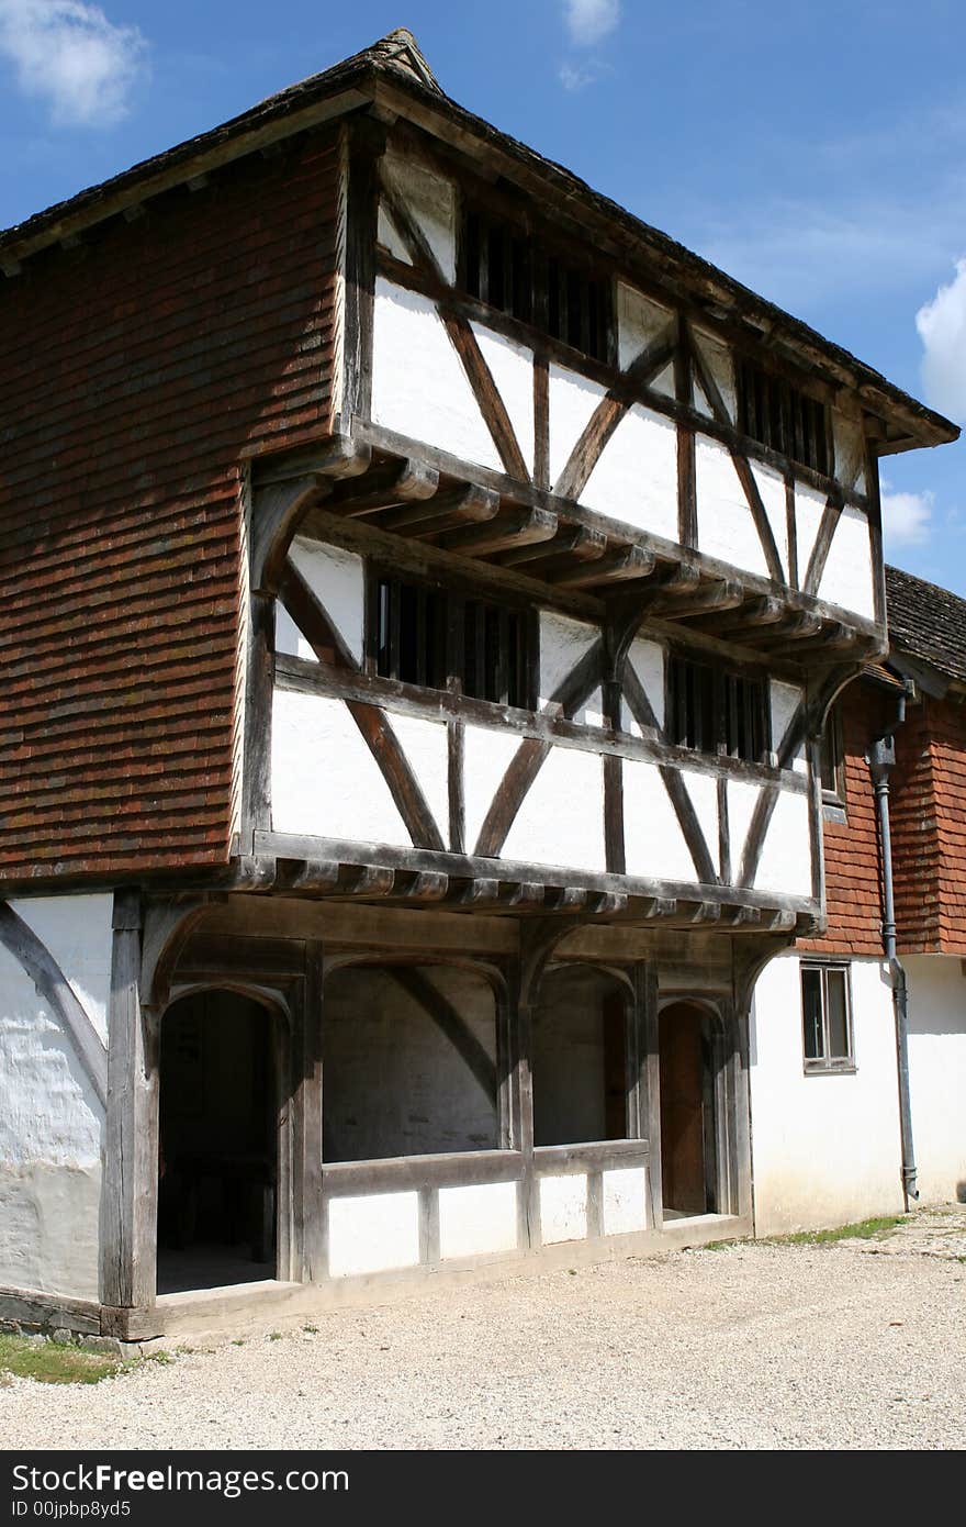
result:
M 963 0 L 0 0 L 0 226 L 409 26 L 443 87 L 966 421 Z M 966 596 L 966 444 L 884 461 Z

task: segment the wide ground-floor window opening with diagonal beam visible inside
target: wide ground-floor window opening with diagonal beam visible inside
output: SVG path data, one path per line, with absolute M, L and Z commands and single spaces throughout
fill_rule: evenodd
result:
M 353 964 L 325 983 L 322 1159 L 497 1150 L 493 986 L 455 965 Z

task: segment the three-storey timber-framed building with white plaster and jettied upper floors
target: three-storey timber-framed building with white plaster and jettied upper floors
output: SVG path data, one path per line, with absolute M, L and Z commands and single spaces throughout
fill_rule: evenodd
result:
M 0 267 L 0 1315 L 751 1232 L 877 460 L 955 428 L 407 32 Z

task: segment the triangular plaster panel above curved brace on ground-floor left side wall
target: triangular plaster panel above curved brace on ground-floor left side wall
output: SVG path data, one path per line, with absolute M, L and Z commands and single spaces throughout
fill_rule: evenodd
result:
M 11 901 L 11 907 L 47 945 L 75 997 L 107 1043 L 114 898 L 24 896 Z

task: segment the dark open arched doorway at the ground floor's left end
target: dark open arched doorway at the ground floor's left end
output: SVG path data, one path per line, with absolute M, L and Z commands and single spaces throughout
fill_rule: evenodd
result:
M 279 1054 L 269 1011 L 233 991 L 168 1008 L 160 1029 L 157 1292 L 275 1278 Z

